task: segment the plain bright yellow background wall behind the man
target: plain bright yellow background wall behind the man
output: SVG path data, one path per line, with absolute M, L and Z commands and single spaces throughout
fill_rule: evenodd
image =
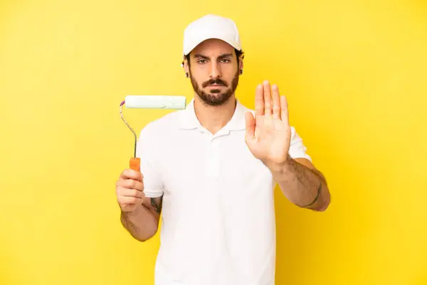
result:
M 1 0 L 0 284 L 153 283 L 159 235 L 133 240 L 115 202 L 133 152 L 119 104 L 192 98 L 182 32 L 209 13 L 241 31 L 237 97 L 253 108 L 256 84 L 278 83 L 332 192 L 325 213 L 277 192 L 277 284 L 427 284 L 427 5 L 415 0 Z M 138 132 L 164 113 L 125 110 Z

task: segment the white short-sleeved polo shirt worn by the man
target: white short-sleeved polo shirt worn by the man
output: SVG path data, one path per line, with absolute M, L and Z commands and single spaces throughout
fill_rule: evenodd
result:
M 246 145 L 247 110 L 212 135 L 193 99 L 141 131 L 144 193 L 164 196 L 155 285 L 275 283 L 275 181 Z M 290 156 L 311 160 L 291 129 Z

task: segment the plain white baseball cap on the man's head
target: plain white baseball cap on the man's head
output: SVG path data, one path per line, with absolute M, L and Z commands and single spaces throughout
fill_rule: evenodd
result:
M 202 41 L 218 38 L 241 51 L 241 40 L 233 20 L 218 15 L 206 15 L 191 22 L 184 30 L 184 56 Z

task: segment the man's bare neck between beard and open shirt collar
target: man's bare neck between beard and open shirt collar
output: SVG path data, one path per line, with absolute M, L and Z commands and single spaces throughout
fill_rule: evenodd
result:
M 194 111 L 196 117 L 201 125 L 209 130 L 211 134 L 216 134 L 221 130 L 228 121 L 233 118 L 234 111 L 236 110 L 236 98 L 231 96 L 226 103 L 220 106 L 206 105 L 199 95 L 194 95 Z

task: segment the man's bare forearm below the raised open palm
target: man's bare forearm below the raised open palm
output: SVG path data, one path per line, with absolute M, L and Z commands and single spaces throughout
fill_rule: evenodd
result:
M 280 189 L 290 202 L 299 207 L 324 211 L 330 192 L 322 173 L 310 169 L 288 156 L 284 165 L 268 165 Z

